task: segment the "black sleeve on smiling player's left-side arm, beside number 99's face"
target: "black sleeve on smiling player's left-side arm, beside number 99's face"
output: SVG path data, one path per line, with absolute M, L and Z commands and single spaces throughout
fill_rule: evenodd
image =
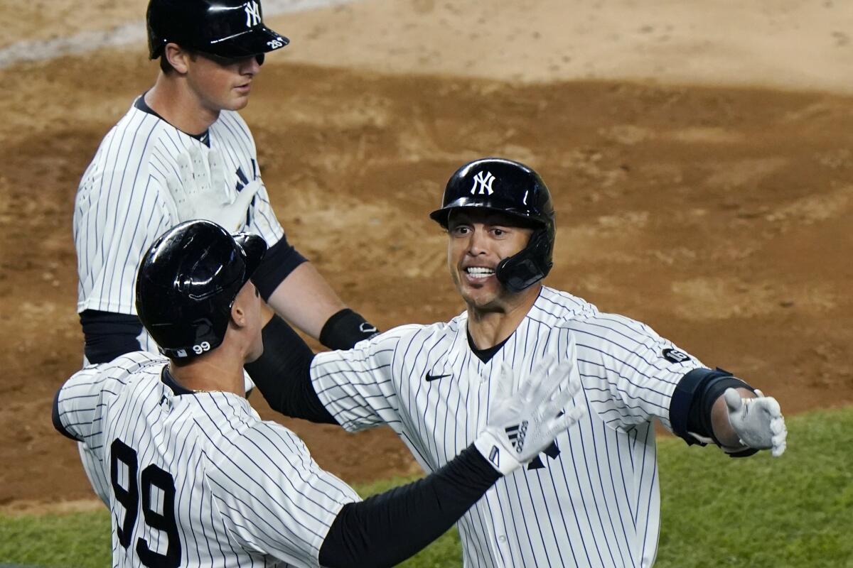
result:
M 337 424 L 311 384 L 314 353 L 286 321 L 277 315 L 261 331 L 264 354 L 246 370 L 272 410 L 311 422 Z

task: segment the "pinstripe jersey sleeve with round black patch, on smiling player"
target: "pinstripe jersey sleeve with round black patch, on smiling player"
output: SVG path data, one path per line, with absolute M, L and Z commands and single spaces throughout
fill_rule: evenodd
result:
M 657 417 L 671 431 L 676 384 L 705 366 L 699 359 L 646 324 L 620 315 L 597 313 L 575 320 L 566 332 L 577 343 L 584 396 L 608 426 L 630 429 Z

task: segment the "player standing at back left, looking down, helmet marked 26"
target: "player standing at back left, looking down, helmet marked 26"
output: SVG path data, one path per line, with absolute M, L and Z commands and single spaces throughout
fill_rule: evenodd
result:
M 160 60 L 160 74 L 103 139 L 75 198 L 85 362 L 138 349 L 157 353 L 134 307 L 136 268 L 160 233 L 211 218 L 213 206 L 215 221 L 270 244 L 255 282 L 276 313 L 333 348 L 376 331 L 288 244 L 261 180 L 252 133 L 237 111 L 247 105 L 264 55 L 288 43 L 261 16 L 258 0 L 150 0 L 149 54 Z M 190 181 L 194 189 L 204 185 L 206 172 L 217 183 L 197 197 L 222 193 L 183 204 L 179 214 L 172 194 Z M 106 499 L 108 479 L 82 445 L 80 455 L 96 494 Z

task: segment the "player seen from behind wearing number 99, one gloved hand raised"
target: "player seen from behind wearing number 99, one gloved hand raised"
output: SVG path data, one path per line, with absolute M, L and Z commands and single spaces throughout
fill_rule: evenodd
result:
M 572 361 L 532 369 L 537 380 L 520 387 L 505 367 L 473 445 L 362 502 L 245 398 L 243 365 L 264 350 L 249 278 L 265 250 L 210 221 L 165 232 L 142 259 L 136 309 L 168 359 L 127 353 L 56 393 L 55 427 L 110 480 L 113 566 L 393 565 L 580 418 L 562 411 L 580 389 Z

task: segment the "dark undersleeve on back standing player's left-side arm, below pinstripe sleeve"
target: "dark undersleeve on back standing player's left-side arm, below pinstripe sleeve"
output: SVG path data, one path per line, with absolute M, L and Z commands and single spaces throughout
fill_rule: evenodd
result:
M 92 364 L 107 363 L 142 348 L 138 339 L 142 322 L 134 315 L 84 310 L 80 313 L 80 325 L 86 341 L 84 353 Z

